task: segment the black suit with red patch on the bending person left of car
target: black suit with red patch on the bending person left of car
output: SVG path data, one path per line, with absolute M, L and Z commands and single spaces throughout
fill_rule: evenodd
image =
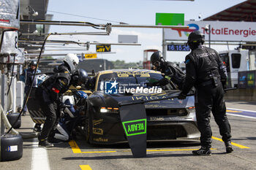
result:
M 64 109 L 61 97 L 69 89 L 70 80 L 69 74 L 56 73 L 39 85 L 37 95 L 39 96 L 42 111 L 46 116 L 42 132 L 38 136 L 41 141 L 47 139 L 49 134 L 54 135 L 53 129 L 58 124 L 61 109 Z

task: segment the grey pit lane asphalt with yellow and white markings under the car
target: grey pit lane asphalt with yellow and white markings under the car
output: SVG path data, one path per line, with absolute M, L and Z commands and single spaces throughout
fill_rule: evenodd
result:
M 0 162 L 0 169 L 256 169 L 256 119 L 238 117 L 238 109 L 256 111 L 256 102 L 228 101 L 234 152 L 225 153 L 219 129 L 211 118 L 213 131 L 212 155 L 195 156 L 197 143 L 150 143 L 146 158 L 133 158 L 127 144 L 111 146 L 89 145 L 83 139 L 55 144 L 43 149 L 37 147 L 37 138 L 23 139 L 23 157 L 17 161 Z M 236 112 L 238 111 L 238 112 Z M 255 112 L 256 115 L 256 112 Z M 31 134 L 34 124 L 29 115 L 22 117 L 18 131 Z

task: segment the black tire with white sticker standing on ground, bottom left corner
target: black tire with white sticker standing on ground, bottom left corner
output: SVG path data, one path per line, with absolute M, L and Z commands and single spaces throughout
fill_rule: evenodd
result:
M 1 161 L 18 160 L 23 155 L 23 140 L 20 134 L 1 136 Z

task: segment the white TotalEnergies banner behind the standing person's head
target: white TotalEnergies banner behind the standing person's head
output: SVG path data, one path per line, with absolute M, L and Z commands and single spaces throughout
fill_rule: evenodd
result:
M 165 28 L 165 40 L 187 40 L 192 31 L 201 31 L 206 35 L 206 25 L 211 26 L 211 41 L 256 41 L 256 23 L 223 21 L 185 21 L 189 28 Z

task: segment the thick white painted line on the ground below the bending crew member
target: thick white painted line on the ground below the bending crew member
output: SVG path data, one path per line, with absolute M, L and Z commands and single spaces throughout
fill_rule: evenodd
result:
M 50 170 L 48 161 L 48 153 L 45 148 L 38 147 L 37 139 L 34 138 L 32 157 L 31 157 L 31 170 Z

